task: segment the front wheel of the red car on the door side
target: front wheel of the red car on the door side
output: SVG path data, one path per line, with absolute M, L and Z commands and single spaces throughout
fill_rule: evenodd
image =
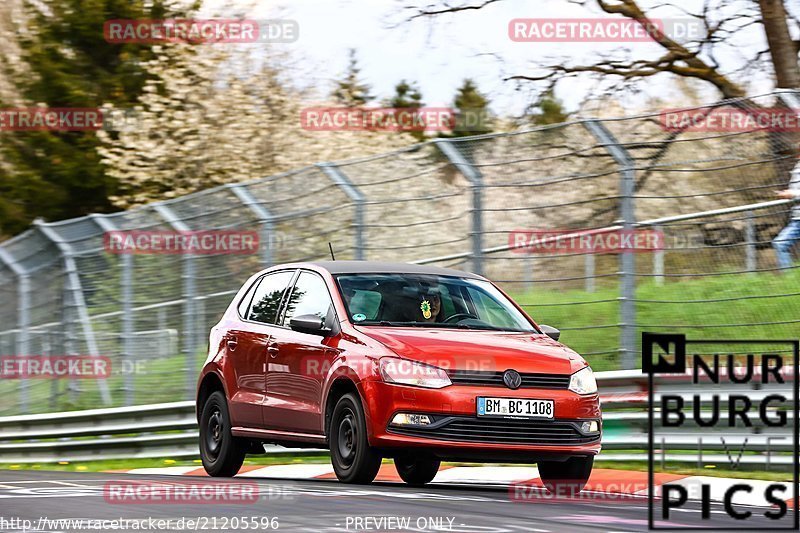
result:
M 381 467 L 381 455 L 370 447 L 361 400 L 353 393 L 339 398 L 333 408 L 328 443 L 336 477 L 342 483 L 372 483 Z

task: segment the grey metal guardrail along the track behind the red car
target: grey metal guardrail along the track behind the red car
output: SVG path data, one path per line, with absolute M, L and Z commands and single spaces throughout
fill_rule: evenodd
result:
M 604 460 L 641 461 L 646 459 L 648 380 L 639 370 L 598 372 L 603 401 Z M 699 394 L 705 404 L 714 394 L 724 395 L 725 386 L 691 386 L 688 376 L 659 376 L 657 394 L 678 394 L 691 404 Z M 792 394 L 792 384 L 780 388 L 752 390 L 748 396 L 757 400 L 767 394 Z M 730 390 L 730 389 L 728 389 Z M 737 389 L 741 392 L 741 387 Z M 753 420 L 758 426 L 758 419 Z M 776 431 L 780 429 L 780 431 Z M 698 437 L 703 438 L 698 450 Z M 746 439 L 746 441 L 745 441 Z M 660 441 L 657 439 L 656 443 Z M 791 425 L 768 428 L 753 435 L 746 428 L 727 429 L 724 433 L 680 431 L 671 434 L 665 446 L 666 455 L 657 460 L 697 463 L 735 460 L 743 445 L 748 452 L 742 464 L 788 465 L 793 450 Z M 296 450 L 278 446 L 266 447 L 267 453 L 291 453 Z M 314 453 L 321 450 L 303 450 Z M 704 453 L 705 451 L 723 453 Z M 683 452 L 683 453 L 674 453 Z M 766 452 L 766 453 L 764 453 Z M 0 418 L 0 463 L 44 463 L 87 461 L 97 459 L 136 459 L 152 457 L 196 457 L 197 421 L 194 402 L 173 402 L 135 407 L 90 409 L 63 413 L 47 413 Z

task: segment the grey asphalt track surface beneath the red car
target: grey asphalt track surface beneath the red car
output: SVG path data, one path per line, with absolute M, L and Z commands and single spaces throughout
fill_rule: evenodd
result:
M 172 482 L 171 476 L 41 471 L 0 471 L 0 531 L 85 531 L 58 519 L 140 519 L 126 531 L 453 531 L 453 532 L 581 532 L 646 531 L 647 500 L 626 503 L 606 501 L 512 501 L 506 487 L 435 485 L 422 488 L 398 483 L 343 485 L 335 480 L 209 479 L 198 483 L 257 483 L 255 503 L 205 504 L 109 503 L 104 497 L 108 483 Z M 791 525 L 791 511 L 781 521 L 763 517 L 765 508 L 750 508 L 753 518 L 732 522 L 721 504 L 711 505 L 710 520 L 701 519 L 699 503 L 674 512 L 669 523 L 656 526 L 747 527 L 766 531 Z M 742 511 L 747 508 L 737 506 Z M 192 527 L 181 518 L 202 518 Z M 235 522 L 247 519 L 250 527 Z M 380 520 L 395 517 L 395 521 Z M 29 520 L 31 529 L 24 529 Z M 254 527 L 252 519 L 257 519 Z M 277 518 L 272 529 L 268 519 Z M 171 519 L 171 525 L 153 520 Z M 360 520 L 359 520 L 360 519 Z M 46 520 L 46 521 L 45 521 Z M 88 524 L 88 522 L 87 522 Z M 96 523 L 95 523 L 96 525 Z M 154 526 L 154 527 L 151 527 Z M 266 525 L 266 527 L 264 527 Z M 746 526 L 745 526 L 746 525 Z M 163 527 L 162 527 L 163 526 Z M 236 527 L 238 526 L 238 527 Z M 104 529 L 108 530 L 108 529 Z

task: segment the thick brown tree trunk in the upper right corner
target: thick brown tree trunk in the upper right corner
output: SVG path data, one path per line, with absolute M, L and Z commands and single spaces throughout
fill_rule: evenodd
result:
M 767 34 L 767 43 L 775 66 L 775 83 L 784 89 L 800 88 L 800 66 L 797 48 L 789 34 L 783 0 L 758 0 L 761 20 Z

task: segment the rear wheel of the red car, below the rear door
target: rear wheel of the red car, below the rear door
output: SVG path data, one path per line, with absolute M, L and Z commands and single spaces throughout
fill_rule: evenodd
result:
M 247 443 L 231 435 L 228 402 L 221 391 L 212 393 L 200 414 L 200 458 L 213 477 L 233 477 L 242 467 Z

